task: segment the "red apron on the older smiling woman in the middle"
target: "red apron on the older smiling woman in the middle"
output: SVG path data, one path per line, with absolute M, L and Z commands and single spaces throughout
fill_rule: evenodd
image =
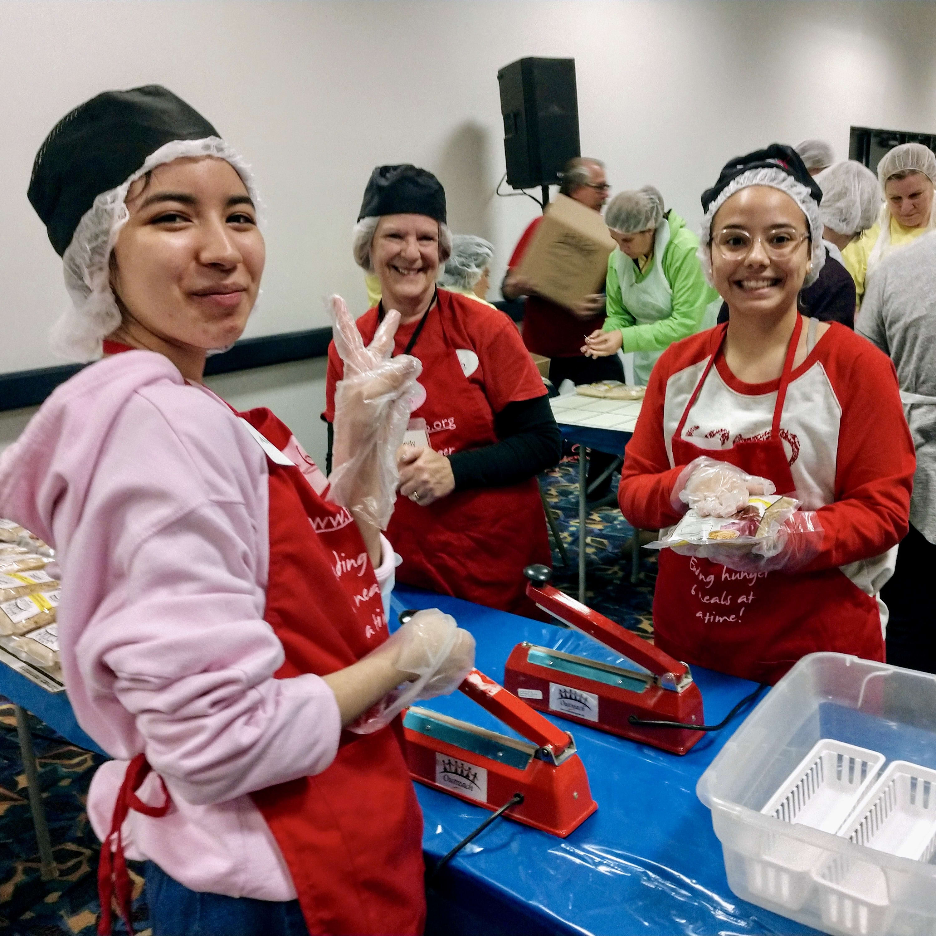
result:
M 413 350 L 426 388 L 426 402 L 413 417 L 426 420 L 431 446 L 443 455 L 498 441 L 484 389 L 463 372 L 446 330 L 446 319 L 456 314 L 451 295 L 440 291 Z M 498 362 L 486 360 L 484 366 Z M 538 617 L 526 596 L 523 569 L 551 565 L 552 559 L 536 478 L 505 488 L 452 491 L 429 506 L 398 497 L 387 535 L 403 560 L 398 581 Z

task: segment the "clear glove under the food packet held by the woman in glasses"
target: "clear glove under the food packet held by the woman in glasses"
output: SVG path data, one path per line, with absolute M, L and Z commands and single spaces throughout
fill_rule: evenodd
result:
M 705 546 L 674 546 L 673 551 L 683 556 L 709 559 L 736 572 L 798 572 L 819 554 L 823 536 L 818 513 L 797 510 L 751 545 L 728 540 Z

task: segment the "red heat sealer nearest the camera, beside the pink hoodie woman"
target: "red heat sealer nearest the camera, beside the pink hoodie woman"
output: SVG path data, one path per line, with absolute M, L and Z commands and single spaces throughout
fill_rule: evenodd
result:
M 528 740 L 412 706 L 403 735 L 413 779 L 564 839 L 598 808 L 572 736 L 476 669 L 459 688 Z

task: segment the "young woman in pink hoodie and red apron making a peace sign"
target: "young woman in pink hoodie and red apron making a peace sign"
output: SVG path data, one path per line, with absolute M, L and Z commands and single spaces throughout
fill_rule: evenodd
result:
M 388 638 L 380 529 L 418 374 L 388 359 L 399 315 L 364 348 L 336 302 L 329 487 L 269 410 L 202 385 L 265 256 L 249 170 L 211 124 L 158 86 L 98 95 L 52 130 L 29 197 L 73 300 L 53 343 L 105 355 L 0 460 L 0 514 L 55 548 L 68 696 L 114 758 L 88 797 L 99 931 L 113 891 L 130 926 L 126 856 L 148 860 L 156 936 L 421 932 L 394 715 L 451 692 L 474 643 L 439 612 Z

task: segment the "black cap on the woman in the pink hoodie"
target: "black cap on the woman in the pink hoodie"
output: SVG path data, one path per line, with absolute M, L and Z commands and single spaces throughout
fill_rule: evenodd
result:
M 161 146 L 217 136 L 197 110 L 158 84 L 105 91 L 67 113 L 36 154 L 28 193 L 55 252 L 65 254 L 95 198 L 126 182 Z

